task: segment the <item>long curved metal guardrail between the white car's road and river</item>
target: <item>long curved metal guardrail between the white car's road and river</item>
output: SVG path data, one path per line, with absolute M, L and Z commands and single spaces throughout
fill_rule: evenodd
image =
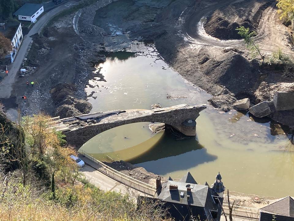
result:
M 128 187 L 136 189 L 140 192 L 146 193 L 148 195 L 154 196 L 156 192 L 156 187 L 150 184 L 146 184 L 140 180 L 136 180 L 131 176 L 127 176 L 126 174 L 120 173 L 119 171 L 107 166 L 106 164 L 96 160 L 95 158 L 89 156 L 86 153 L 82 153 L 85 157 L 89 160 L 95 162 L 98 165 L 97 170 L 106 174 L 107 176 L 111 177 L 114 180 L 119 181 L 122 184 L 125 184 Z

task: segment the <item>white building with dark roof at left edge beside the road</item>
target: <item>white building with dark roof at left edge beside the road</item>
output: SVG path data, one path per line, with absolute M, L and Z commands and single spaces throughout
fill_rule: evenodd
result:
M 2 23 L 0 32 L 2 32 L 6 38 L 11 40 L 13 49 L 11 52 L 7 53 L 5 58 L 9 58 L 12 63 L 23 39 L 21 23 Z

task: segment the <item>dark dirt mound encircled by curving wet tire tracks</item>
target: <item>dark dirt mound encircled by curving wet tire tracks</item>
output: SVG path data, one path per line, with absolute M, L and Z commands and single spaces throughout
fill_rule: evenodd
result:
M 239 26 L 249 28 L 250 31 L 257 31 L 258 23 L 262 17 L 262 12 L 272 3 L 252 2 L 233 4 L 214 11 L 204 25 L 206 33 L 219 39 L 240 39 L 241 36 L 236 31 Z M 246 8 L 245 8 L 246 6 Z

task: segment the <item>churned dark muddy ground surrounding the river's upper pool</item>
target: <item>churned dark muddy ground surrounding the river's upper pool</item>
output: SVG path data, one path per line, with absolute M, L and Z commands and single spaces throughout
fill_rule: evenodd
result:
M 81 106 L 88 80 L 96 76 L 104 80 L 99 70 L 93 73 L 95 65 L 109 52 L 142 52 L 146 42 L 154 42 L 160 56 L 184 78 L 214 95 L 209 102 L 223 111 L 231 109 L 237 99 L 248 97 L 253 105 L 272 101 L 275 91 L 293 90 L 294 86 L 285 85 L 294 79 L 282 76 L 275 67 L 260 66 L 260 58 L 252 59 L 242 41 L 222 42 L 199 35 L 198 21 L 209 13 L 219 14 L 229 23 L 248 18 L 259 31 L 262 52 L 281 48 L 291 56 L 290 29 L 278 20 L 272 4 L 265 7 L 268 1 L 248 0 L 238 11 L 229 3 L 101 0 L 81 10 L 78 33 L 73 29 L 76 12 L 60 17 L 34 37 L 25 62 L 29 73 L 15 83 L 16 103 L 24 114 L 45 111 L 66 117 L 87 113 L 90 104 Z M 248 5 L 252 7 L 246 9 Z M 228 9 L 238 16 L 231 16 Z M 35 81 L 35 86 L 26 86 L 26 81 Z M 23 95 L 28 97 L 26 101 L 21 100 Z M 272 118 L 294 126 L 294 118 L 289 116 L 293 111 L 274 113 Z

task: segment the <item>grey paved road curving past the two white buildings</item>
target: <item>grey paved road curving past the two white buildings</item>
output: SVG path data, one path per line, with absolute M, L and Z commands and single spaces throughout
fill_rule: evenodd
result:
M 29 31 L 29 33 L 24 37 L 21 47 L 17 52 L 17 56 L 11 65 L 11 68 L 9 69 L 9 75 L 6 76 L 1 82 L 0 82 L 0 98 L 9 98 L 11 95 L 11 91 L 13 88 L 14 79 L 17 76 L 18 71 L 20 70 L 21 64 L 25 58 L 25 54 L 27 52 L 28 46 L 32 41 L 32 38 L 30 36 L 38 33 L 38 31 L 43 27 L 44 24 L 47 23 L 47 21 L 53 17 L 58 12 L 68 8 L 66 5 L 69 4 L 76 4 L 76 1 L 70 1 L 65 2 L 65 4 L 58 6 L 57 8 L 47 12 L 44 14 L 40 20 L 36 22 L 36 24 L 32 27 L 32 29 Z

